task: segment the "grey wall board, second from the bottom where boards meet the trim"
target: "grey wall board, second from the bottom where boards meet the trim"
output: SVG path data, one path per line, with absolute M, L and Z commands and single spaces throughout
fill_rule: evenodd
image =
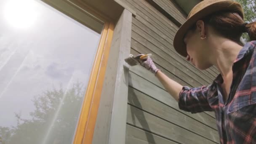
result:
M 216 142 L 198 136 L 130 105 L 127 107 L 127 123 L 152 133 L 157 133 L 173 141 L 179 141 L 181 144 L 216 144 Z

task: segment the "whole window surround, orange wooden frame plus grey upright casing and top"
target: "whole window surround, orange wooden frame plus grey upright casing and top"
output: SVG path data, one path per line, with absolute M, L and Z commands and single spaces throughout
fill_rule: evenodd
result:
M 132 16 L 136 16 L 135 11 L 120 0 L 109 0 L 110 3 L 115 2 L 117 7 L 123 8 L 123 11 L 115 11 L 117 15 L 120 13 L 119 17 L 108 17 L 102 14 L 104 12 L 100 13 L 83 3 L 83 0 L 41 1 L 77 21 L 79 19 L 76 19 L 74 14 L 72 16 L 63 11 L 58 3 L 68 3 L 104 23 L 73 144 L 97 144 L 99 139 L 101 144 L 124 144 L 129 72 L 124 59 L 129 56 L 131 50 L 131 20 Z M 84 21 L 79 22 L 86 25 Z M 97 27 L 90 28 L 99 33 Z M 103 133 L 99 133 L 101 128 L 104 128 Z M 93 135 L 95 130 L 96 134 Z

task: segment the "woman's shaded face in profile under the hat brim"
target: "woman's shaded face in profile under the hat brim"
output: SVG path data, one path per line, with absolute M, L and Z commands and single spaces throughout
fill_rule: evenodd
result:
M 184 38 L 184 43 L 187 48 L 187 60 L 198 69 L 208 69 L 212 65 L 209 63 L 209 50 L 207 39 L 202 40 L 200 30 L 189 30 Z

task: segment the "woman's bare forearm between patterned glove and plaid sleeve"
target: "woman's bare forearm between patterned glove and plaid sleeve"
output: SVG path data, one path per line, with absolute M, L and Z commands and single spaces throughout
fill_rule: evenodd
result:
M 173 98 L 178 101 L 179 100 L 179 93 L 182 90 L 182 85 L 177 83 L 176 81 L 170 79 L 167 77 L 163 72 L 158 70 L 155 74 L 155 76 L 158 78 L 158 80 L 163 84 L 165 87 L 166 91 L 173 96 Z

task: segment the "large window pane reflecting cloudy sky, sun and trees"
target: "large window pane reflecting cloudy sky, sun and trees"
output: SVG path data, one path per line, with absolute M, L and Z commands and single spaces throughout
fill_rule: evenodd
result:
M 0 144 L 71 144 L 101 35 L 37 0 L 0 26 Z

